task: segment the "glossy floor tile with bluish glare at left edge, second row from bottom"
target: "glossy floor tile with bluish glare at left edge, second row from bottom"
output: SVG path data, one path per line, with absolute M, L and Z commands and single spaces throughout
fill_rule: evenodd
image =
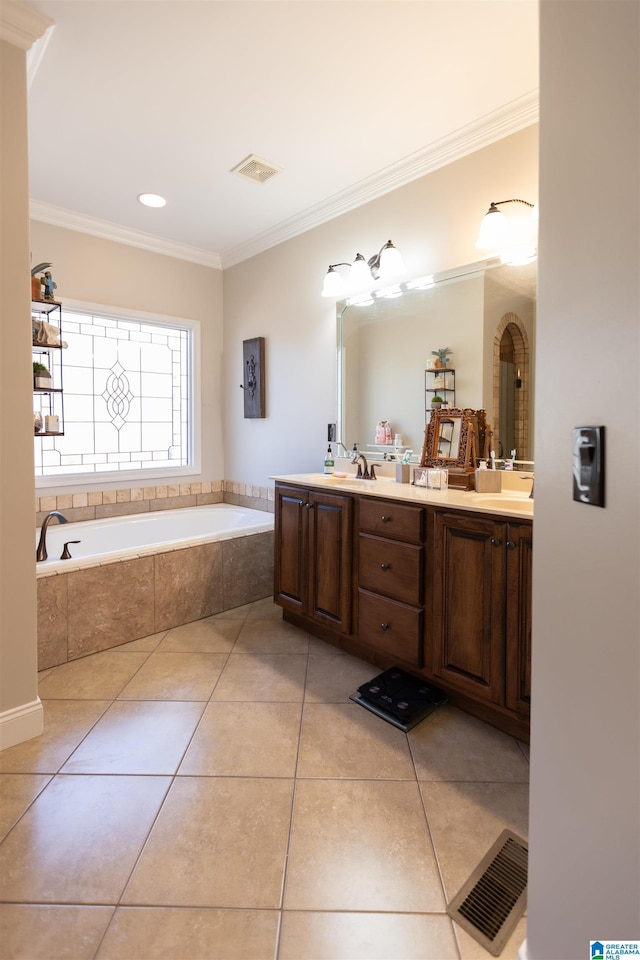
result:
M 54 777 L 0 847 L 0 900 L 116 903 L 169 783 Z

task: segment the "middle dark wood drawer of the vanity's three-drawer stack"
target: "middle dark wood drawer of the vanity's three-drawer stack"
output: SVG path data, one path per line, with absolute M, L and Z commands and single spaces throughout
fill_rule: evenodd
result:
M 403 603 L 422 603 L 423 548 L 361 533 L 359 584 Z

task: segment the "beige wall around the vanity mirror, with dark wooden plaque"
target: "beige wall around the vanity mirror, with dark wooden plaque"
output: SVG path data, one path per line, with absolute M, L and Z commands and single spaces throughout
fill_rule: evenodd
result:
M 410 277 L 477 261 L 491 200 L 537 199 L 537 145 L 529 127 L 225 270 L 226 479 L 263 485 L 322 469 L 337 415 L 335 305 L 320 296 L 329 263 L 369 257 L 388 239 Z M 256 336 L 266 338 L 267 417 L 244 420 L 242 341 Z

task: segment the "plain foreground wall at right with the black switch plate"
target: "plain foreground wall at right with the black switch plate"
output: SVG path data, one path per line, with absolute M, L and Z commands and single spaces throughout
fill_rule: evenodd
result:
M 639 40 L 637 3 L 541 5 L 530 960 L 640 936 Z

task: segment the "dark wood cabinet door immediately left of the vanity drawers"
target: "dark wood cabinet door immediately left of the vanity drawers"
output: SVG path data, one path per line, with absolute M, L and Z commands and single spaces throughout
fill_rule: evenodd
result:
M 308 613 L 349 633 L 352 608 L 353 502 L 339 494 L 311 493 L 308 513 Z

